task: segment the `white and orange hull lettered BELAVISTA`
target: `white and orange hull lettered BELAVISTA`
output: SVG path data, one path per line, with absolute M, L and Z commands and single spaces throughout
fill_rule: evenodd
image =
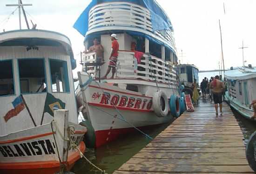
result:
M 71 135 L 71 140 L 84 153 L 85 144 L 81 140 L 86 128 L 74 123 L 71 125 L 76 128 L 74 134 Z M 62 140 L 55 125 L 53 125 L 53 130 L 49 123 L 1 136 L 0 173 L 54 174 L 60 171 L 59 155 L 61 161 L 63 161 L 60 148 Z M 70 148 L 67 161 L 63 164 L 65 164 L 67 170 L 70 170 L 79 158 L 79 151 Z

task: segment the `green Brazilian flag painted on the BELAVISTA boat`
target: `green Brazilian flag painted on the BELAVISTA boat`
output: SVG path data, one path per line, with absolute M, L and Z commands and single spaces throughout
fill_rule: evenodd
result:
M 44 113 L 49 113 L 54 116 L 54 107 L 59 109 L 65 109 L 65 103 L 60 99 L 56 99 L 52 94 L 47 93 L 45 104 L 44 104 Z

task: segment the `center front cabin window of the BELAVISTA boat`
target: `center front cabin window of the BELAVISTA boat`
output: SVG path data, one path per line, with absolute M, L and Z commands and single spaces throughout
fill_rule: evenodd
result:
M 20 59 L 18 64 L 21 94 L 47 92 L 44 59 Z

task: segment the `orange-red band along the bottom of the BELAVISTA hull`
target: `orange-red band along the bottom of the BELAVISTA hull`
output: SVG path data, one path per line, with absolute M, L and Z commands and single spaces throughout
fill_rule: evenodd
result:
M 83 141 L 80 142 L 79 148 L 82 153 L 85 152 L 85 144 Z M 80 159 L 80 153 L 78 151 L 69 156 L 66 163 L 67 169 L 70 170 L 78 159 Z M 60 162 L 33 161 L 0 163 L 0 172 L 3 171 L 8 174 L 54 174 L 60 171 Z

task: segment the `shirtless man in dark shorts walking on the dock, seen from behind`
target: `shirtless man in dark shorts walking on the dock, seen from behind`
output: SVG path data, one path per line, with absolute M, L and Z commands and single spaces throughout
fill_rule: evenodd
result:
M 210 88 L 212 89 L 213 100 L 215 104 L 216 115 L 218 115 L 218 104 L 220 105 L 220 113 L 222 113 L 222 93 L 223 93 L 223 90 L 225 90 L 224 83 L 219 79 L 220 77 L 216 75 L 215 80 L 213 80 L 210 84 Z

